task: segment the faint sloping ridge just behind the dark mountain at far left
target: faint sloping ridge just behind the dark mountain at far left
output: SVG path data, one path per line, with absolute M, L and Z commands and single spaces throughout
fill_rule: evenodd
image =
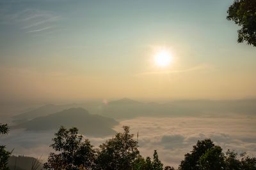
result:
M 13 117 L 14 119 L 13 122 L 15 123 L 26 122 L 27 120 L 31 120 L 36 117 L 50 115 L 51 113 L 56 113 L 58 111 L 65 110 L 68 108 L 74 108 L 74 107 L 76 107 L 76 104 L 61 104 L 61 105 L 46 104 L 39 108 L 35 108 L 33 110 L 20 113 L 19 115 L 15 115 Z

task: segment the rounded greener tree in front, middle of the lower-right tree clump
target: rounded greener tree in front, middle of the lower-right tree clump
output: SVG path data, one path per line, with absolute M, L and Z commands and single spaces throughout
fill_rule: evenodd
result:
M 208 149 L 199 159 L 199 167 L 201 170 L 218 170 L 224 169 L 225 161 L 222 148 L 214 146 Z

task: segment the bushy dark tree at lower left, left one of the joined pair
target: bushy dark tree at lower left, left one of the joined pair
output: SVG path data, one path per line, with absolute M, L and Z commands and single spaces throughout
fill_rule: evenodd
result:
M 50 153 L 44 164 L 46 169 L 93 169 L 95 150 L 88 139 L 82 142 L 83 136 L 76 127 L 67 130 L 61 126 L 55 136 L 51 147 L 59 153 Z

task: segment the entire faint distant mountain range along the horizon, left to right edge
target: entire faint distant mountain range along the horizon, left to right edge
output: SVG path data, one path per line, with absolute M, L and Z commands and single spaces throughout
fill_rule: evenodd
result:
M 223 115 L 227 113 L 256 115 L 256 99 L 238 100 L 180 100 L 168 103 L 142 103 L 123 98 L 108 103 L 86 104 L 47 104 L 35 110 L 13 117 L 14 122 L 21 123 L 36 117 L 42 117 L 74 107 L 86 108 L 90 113 L 116 119 L 134 117 L 180 117 L 198 115 Z

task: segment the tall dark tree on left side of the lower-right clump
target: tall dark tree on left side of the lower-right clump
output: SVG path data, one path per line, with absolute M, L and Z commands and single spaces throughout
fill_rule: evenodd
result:
M 204 139 L 202 141 L 197 141 L 196 145 L 193 146 L 191 153 L 186 153 L 184 160 L 180 162 L 179 169 L 182 170 L 198 170 L 199 169 L 199 159 L 204 153 L 214 148 L 214 144 L 211 139 Z

